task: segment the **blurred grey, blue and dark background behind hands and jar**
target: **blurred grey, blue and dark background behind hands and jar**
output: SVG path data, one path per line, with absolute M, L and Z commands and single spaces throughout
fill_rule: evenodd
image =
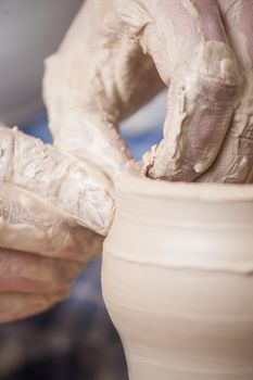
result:
M 43 60 L 54 52 L 83 0 L 0 0 L 0 121 L 51 142 L 41 101 Z M 125 121 L 134 157 L 162 138 L 163 92 Z M 101 259 L 91 262 L 69 299 L 49 312 L 0 325 L 0 380 L 126 380 L 118 335 L 106 313 Z

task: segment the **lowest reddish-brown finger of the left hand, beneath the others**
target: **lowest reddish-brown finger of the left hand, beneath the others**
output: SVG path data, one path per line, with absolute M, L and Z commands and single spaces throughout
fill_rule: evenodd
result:
M 10 322 L 41 313 L 63 300 L 65 293 L 50 294 L 0 294 L 0 322 Z

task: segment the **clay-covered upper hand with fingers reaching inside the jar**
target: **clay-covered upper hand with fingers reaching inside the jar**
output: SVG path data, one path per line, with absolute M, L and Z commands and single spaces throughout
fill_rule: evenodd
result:
M 47 61 L 55 143 L 114 177 L 129 159 L 118 122 L 167 86 L 148 175 L 250 181 L 252 16 L 251 0 L 87 0 Z

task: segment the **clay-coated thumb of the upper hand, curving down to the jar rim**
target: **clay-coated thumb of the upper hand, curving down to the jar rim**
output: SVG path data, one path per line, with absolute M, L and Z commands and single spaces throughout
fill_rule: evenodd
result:
M 46 61 L 43 79 L 54 143 L 113 179 L 130 159 L 117 124 L 163 87 L 138 35 L 123 26 L 127 15 L 117 5 L 86 1 L 59 51 Z

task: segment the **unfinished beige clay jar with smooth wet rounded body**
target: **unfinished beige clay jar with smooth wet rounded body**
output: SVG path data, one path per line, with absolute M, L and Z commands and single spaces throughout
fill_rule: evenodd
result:
M 122 175 L 104 300 L 130 380 L 253 379 L 253 187 Z

